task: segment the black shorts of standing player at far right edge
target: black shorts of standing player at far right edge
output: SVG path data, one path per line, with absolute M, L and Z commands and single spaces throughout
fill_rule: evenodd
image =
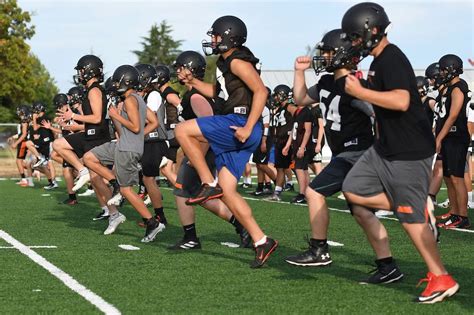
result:
M 441 144 L 441 156 L 443 157 L 443 176 L 464 177 L 466 167 L 466 155 L 469 143 L 444 140 Z

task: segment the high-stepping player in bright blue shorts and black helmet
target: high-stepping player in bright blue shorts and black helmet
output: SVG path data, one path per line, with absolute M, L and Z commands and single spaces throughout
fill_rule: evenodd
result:
M 252 215 L 252 209 L 237 192 L 237 183 L 250 155 L 260 144 L 262 123 L 259 121 L 268 92 L 257 70 L 258 59 L 243 46 L 247 28 L 235 16 L 218 18 L 208 32 L 211 42 L 203 48 L 219 55 L 216 84 L 204 83 L 189 70 L 178 78 L 204 96 L 215 98 L 217 115 L 200 117 L 179 124 L 176 129 L 185 155 L 196 169 L 203 183 L 197 196 L 188 204 L 200 204 L 222 197 L 222 201 L 247 229 L 255 245 L 252 268 L 264 265 L 278 242 L 267 237 Z M 219 185 L 205 160 L 208 147 L 216 155 Z

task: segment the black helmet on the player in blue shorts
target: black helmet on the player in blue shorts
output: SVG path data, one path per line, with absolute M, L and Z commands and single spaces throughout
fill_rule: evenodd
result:
M 231 48 L 242 46 L 247 41 L 247 26 L 236 16 L 226 15 L 218 18 L 207 32 L 212 37 L 219 36 L 221 40 L 210 42 L 203 40 L 202 49 L 206 56 L 218 55 Z

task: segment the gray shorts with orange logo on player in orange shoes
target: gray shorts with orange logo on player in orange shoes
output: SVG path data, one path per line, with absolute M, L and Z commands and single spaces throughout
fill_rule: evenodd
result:
M 370 147 L 347 174 L 342 191 L 364 197 L 386 193 L 401 223 L 423 223 L 432 161 L 388 161 Z

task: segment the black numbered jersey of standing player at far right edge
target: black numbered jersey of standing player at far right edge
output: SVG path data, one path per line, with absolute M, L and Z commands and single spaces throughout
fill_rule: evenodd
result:
M 453 125 L 451 126 L 451 129 L 449 130 L 448 134 L 446 135 L 444 139 L 446 140 L 450 139 L 450 140 L 460 141 L 463 143 L 469 143 L 470 137 L 469 137 L 469 131 L 467 129 L 467 105 L 469 104 L 471 97 L 470 97 L 469 86 L 467 85 L 466 81 L 464 81 L 463 79 L 460 79 L 459 82 L 456 82 L 455 84 L 448 86 L 446 89 L 446 93 L 444 93 L 441 97 L 439 131 L 441 131 L 444 124 L 446 123 L 446 120 L 449 117 L 449 112 L 451 111 L 451 102 L 452 102 L 451 95 L 455 88 L 459 88 L 461 93 L 464 95 L 464 101 L 463 101 L 461 110 L 459 111 L 458 117 L 454 121 Z

